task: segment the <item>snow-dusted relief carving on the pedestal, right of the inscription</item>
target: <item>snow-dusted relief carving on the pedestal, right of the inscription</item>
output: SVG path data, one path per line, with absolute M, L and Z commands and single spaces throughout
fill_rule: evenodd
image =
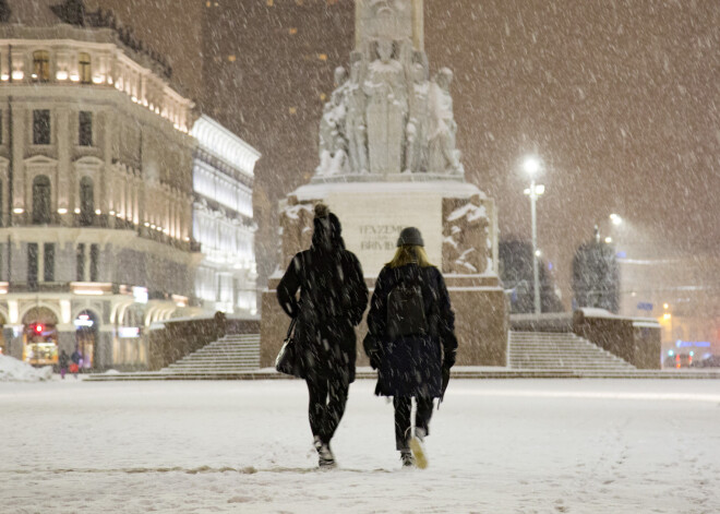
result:
M 488 208 L 480 195 L 443 199 L 443 273 L 492 273 Z

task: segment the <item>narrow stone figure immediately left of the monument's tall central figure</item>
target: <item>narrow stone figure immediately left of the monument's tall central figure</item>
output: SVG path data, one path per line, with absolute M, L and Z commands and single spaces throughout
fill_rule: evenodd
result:
M 357 174 L 367 174 L 368 168 L 368 125 L 365 109 L 368 99 L 362 88 L 367 64 L 362 53 L 350 56 L 350 85 L 348 86 L 347 135 L 350 166 Z

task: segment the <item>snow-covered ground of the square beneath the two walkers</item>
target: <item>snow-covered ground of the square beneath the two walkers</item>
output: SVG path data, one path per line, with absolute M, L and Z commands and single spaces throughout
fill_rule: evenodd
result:
M 0 512 L 720 511 L 720 381 L 455 381 L 427 470 L 373 385 L 317 471 L 302 382 L 2 383 Z

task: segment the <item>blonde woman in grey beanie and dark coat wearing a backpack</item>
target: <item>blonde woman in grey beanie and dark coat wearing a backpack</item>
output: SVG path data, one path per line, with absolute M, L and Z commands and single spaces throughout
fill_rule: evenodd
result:
M 455 314 L 440 270 L 428 261 L 420 230 L 404 229 L 397 247 L 377 276 L 363 346 L 377 370 L 375 394 L 393 396 L 395 443 L 403 465 L 424 467 L 421 443 L 429 433 L 433 399 L 442 396 L 443 376 L 449 376 L 455 364 Z

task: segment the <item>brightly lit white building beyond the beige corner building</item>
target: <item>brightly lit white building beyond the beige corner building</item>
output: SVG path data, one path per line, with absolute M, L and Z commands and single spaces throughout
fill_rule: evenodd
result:
M 215 120 L 202 116 L 193 166 L 193 237 L 203 262 L 195 296 L 205 311 L 255 316 L 256 266 L 252 186 L 260 153 Z

